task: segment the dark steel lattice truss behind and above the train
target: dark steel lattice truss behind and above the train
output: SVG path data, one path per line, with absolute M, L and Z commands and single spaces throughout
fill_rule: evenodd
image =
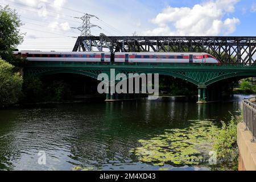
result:
M 223 63 L 255 64 L 256 37 L 88 36 L 77 38 L 74 52 L 207 52 Z

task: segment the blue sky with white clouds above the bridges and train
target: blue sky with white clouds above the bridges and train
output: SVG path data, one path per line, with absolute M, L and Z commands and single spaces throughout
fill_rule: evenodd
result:
M 92 35 L 256 36 L 256 0 L 0 0 L 26 32 L 19 50 L 72 51 L 85 13 Z

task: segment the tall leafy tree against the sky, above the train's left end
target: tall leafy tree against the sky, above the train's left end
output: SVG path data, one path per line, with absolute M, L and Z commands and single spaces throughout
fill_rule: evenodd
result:
M 12 52 L 25 35 L 20 33 L 20 26 L 22 23 L 16 11 L 0 5 L 0 57 L 11 64 L 15 64 Z

